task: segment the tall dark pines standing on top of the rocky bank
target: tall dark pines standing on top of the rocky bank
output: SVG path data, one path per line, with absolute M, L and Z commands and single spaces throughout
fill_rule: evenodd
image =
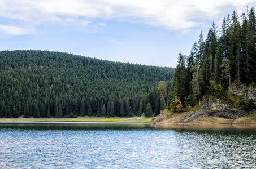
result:
M 179 54 L 170 103 L 174 109 L 200 104 L 203 96 L 227 99 L 232 84 L 255 85 L 256 19 L 254 7 L 240 17 L 236 11 L 215 23 L 203 39 L 194 42 L 189 56 Z

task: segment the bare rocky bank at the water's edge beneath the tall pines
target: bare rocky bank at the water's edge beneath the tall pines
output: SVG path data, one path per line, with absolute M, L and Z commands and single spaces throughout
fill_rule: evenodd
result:
M 245 118 L 256 113 L 254 86 L 231 86 L 228 98 L 223 100 L 205 97 L 201 105 L 189 112 L 162 112 L 150 124 L 256 124 L 256 118 Z

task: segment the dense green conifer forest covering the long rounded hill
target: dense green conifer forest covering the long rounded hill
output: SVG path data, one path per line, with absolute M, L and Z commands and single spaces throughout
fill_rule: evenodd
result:
M 160 113 L 173 68 L 115 63 L 64 52 L 0 52 L 0 117 L 132 117 Z

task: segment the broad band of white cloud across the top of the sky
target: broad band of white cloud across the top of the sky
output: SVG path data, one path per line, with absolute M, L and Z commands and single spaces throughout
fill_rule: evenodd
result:
M 27 34 L 24 25 L 35 29 L 40 24 L 79 25 L 86 27 L 92 19 L 137 20 L 164 29 L 183 31 L 202 25 L 199 20 L 214 19 L 232 6 L 245 11 L 255 0 L 2 0 L 0 18 L 15 20 L 2 25 L 1 32 L 13 35 Z M 227 13 L 232 11 L 227 11 Z M 223 18 L 221 15 L 220 17 Z M 82 18 L 82 19 L 81 19 Z M 0 19 L 1 21 L 1 19 Z M 98 24 L 98 23 L 97 23 Z M 20 27 L 20 28 L 18 28 Z M 20 30 L 19 30 L 20 29 Z

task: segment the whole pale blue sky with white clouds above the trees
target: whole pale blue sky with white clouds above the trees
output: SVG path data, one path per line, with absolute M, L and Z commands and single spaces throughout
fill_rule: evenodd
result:
M 0 50 L 50 50 L 175 67 L 202 30 L 256 0 L 1 0 Z

